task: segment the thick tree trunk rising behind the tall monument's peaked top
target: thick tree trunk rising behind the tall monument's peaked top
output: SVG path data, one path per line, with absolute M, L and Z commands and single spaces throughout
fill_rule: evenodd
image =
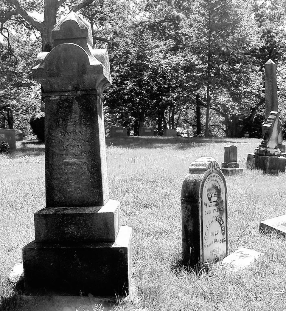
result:
M 43 52 L 50 52 L 53 47 L 52 29 L 56 24 L 57 1 L 44 0 L 44 27 L 41 32 Z

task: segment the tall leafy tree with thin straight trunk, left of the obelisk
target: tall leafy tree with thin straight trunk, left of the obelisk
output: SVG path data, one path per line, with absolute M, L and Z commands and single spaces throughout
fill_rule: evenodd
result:
M 188 49 L 197 64 L 198 91 L 206 107 L 205 136 L 210 109 L 225 118 L 228 132 L 229 114 L 234 116 L 242 106 L 243 86 L 250 83 L 250 50 L 259 41 L 248 9 L 239 0 L 201 0 L 188 7 Z

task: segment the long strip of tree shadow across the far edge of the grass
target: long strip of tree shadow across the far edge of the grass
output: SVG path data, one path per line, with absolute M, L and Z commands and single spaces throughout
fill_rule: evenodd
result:
M 209 143 L 225 143 L 239 144 L 240 138 L 203 138 L 203 137 L 142 137 L 142 136 L 127 136 L 127 137 L 106 137 L 106 145 L 116 146 L 121 148 L 164 148 L 173 146 L 177 150 L 185 150 L 193 147 L 200 147 Z

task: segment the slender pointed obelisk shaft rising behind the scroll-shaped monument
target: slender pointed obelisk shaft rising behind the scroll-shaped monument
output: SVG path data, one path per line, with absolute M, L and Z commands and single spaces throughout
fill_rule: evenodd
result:
M 278 111 L 276 64 L 272 59 L 265 63 L 265 118 L 270 111 Z

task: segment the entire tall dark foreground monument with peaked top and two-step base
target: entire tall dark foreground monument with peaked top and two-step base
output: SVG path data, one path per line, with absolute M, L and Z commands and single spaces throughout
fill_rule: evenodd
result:
M 128 293 L 131 227 L 109 199 L 102 92 L 111 84 L 106 49 L 92 49 L 90 24 L 71 12 L 52 30 L 33 77 L 45 99 L 46 207 L 23 248 L 28 292 Z

